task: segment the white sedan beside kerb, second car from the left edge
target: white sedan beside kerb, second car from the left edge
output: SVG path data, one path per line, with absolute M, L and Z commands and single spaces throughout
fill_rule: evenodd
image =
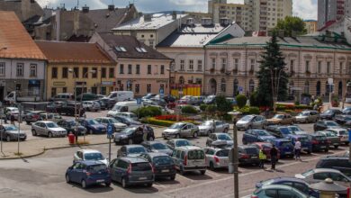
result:
M 37 121 L 31 123 L 31 133 L 33 136 L 44 135 L 49 138 L 67 136 L 67 130 L 59 127 L 58 124 L 53 121 Z

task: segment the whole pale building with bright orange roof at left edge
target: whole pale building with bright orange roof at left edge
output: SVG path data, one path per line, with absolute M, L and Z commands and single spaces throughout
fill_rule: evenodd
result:
M 0 18 L 0 101 L 12 91 L 45 100 L 45 55 L 14 12 Z

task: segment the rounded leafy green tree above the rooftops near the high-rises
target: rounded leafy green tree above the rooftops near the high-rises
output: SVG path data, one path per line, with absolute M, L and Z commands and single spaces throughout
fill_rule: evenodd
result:
M 284 36 L 292 36 L 295 31 L 297 35 L 306 34 L 305 23 L 297 16 L 285 16 L 284 20 L 278 20 L 275 32 L 284 31 Z

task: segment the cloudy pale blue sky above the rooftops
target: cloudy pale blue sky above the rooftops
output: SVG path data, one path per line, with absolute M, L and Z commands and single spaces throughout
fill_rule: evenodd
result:
M 88 5 L 91 9 L 106 8 L 107 4 L 115 4 L 117 7 L 125 7 L 134 3 L 139 12 L 155 13 L 160 11 L 193 11 L 207 12 L 208 0 L 37 0 L 41 6 L 57 7 L 65 4 L 66 8 L 75 7 L 79 1 L 79 7 Z M 243 4 L 244 0 L 228 0 L 228 3 Z M 293 15 L 302 19 L 317 19 L 317 0 L 293 0 Z

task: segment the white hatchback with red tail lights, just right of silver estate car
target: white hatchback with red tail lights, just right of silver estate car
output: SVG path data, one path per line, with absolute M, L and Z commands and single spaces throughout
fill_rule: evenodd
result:
M 206 155 L 206 164 L 211 170 L 228 168 L 229 148 L 203 148 Z

